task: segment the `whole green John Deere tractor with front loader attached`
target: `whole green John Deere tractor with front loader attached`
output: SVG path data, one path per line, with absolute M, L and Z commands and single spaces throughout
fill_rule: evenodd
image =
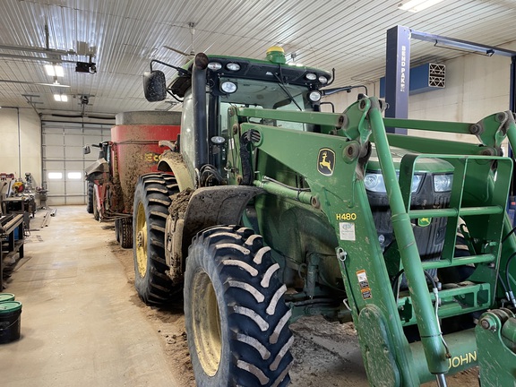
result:
M 169 66 L 168 86 L 144 76 L 146 98 L 169 93 L 183 116 L 136 186 L 135 287 L 149 304 L 184 297 L 198 385 L 287 385 L 288 325 L 313 314 L 355 323 L 372 386 L 443 386 L 477 365 L 483 386 L 514 383 L 511 112 L 388 119 L 365 95 L 321 112 L 334 76 L 280 47 Z

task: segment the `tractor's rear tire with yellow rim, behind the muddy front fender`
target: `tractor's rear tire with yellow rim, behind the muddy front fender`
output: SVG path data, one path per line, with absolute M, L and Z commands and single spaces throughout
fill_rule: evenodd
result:
M 180 290 L 166 274 L 165 226 L 170 196 L 178 193 L 172 175 L 152 173 L 138 179 L 133 205 L 134 287 L 145 304 L 168 302 Z M 120 229 L 120 239 L 123 238 Z

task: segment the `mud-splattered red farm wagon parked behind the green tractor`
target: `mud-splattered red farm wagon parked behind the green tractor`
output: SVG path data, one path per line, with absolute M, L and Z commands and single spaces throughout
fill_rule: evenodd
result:
M 111 141 L 92 144 L 99 159 L 86 168 L 87 210 L 100 221 L 115 221 L 116 240 L 133 247 L 133 197 L 138 176 L 158 170 L 159 141 L 176 141 L 181 113 L 125 112 L 116 115 Z M 90 153 L 90 147 L 84 148 Z

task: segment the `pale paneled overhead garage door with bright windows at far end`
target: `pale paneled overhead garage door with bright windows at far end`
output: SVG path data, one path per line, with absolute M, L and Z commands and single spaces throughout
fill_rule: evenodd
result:
M 111 139 L 111 125 L 42 122 L 43 186 L 47 205 L 86 204 L 84 168 L 99 157 L 98 148 L 82 154 L 84 145 Z

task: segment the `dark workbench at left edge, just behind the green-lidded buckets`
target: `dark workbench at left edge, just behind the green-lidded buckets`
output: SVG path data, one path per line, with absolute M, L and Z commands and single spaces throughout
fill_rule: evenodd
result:
M 4 261 L 19 254 L 23 258 L 23 214 L 0 217 L 0 291 L 4 290 Z

